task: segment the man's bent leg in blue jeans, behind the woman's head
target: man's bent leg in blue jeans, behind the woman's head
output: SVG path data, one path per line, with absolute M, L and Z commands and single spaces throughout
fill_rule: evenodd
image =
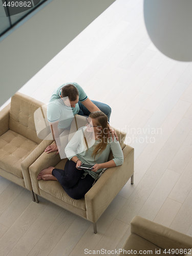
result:
M 95 100 L 92 100 L 92 102 L 100 109 L 100 111 L 102 111 L 108 117 L 108 121 L 110 121 L 110 116 L 111 116 L 110 106 Z M 78 101 L 78 104 L 79 104 L 78 115 L 89 116 L 91 112 L 80 101 Z

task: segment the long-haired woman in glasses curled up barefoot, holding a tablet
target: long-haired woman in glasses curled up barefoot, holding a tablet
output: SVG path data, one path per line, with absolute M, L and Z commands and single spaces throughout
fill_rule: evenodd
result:
M 108 161 L 112 151 L 114 158 Z M 37 179 L 57 180 L 73 199 L 82 198 L 103 168 L 123 163 L 123 153 L 119 142 L 108 137 L 108 117 L 101 111 L 90 114 L 86 127 L 78 130 L 65 149 L 68 161 L 64 170 L 53 166 L 41 170 Z M 81 163 L 93 164 L 92 170 L 82 170 Z

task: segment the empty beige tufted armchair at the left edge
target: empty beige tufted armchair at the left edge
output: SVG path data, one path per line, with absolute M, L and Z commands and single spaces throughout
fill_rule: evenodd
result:
M 44 103 L 16 93 L 0 112 L 0 176 L 31 190 L 29 166 L 53 140 L 37 137 L 34 112 Z

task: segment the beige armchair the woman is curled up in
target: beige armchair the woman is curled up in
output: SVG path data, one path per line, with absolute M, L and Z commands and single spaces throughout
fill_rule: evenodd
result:
M 74 132 L 85 125 L 85 118 L 76 115 L 74 118 L 69 139 Z M 43 153 L 30 167 L 30 177 L 33 191 L 37 195 L 73 212 L 74 214 L 91 221 L 94 224 L 94 232 L 96 233 L 96 221 L 102 215 L 103 211 L 108 207 L 112 200 L 116 197 L 125 183 L 132 177 L 133 184 L 134 174 L 134 148 L 123 143 L 125 135 L 117 131 L 121 148 L 123 151 L 124 162 L 120 166 L 108 168 L 99 180 L 92 186 L 84 198 L 74 200 L 69 197 L 58 181 L 37 180 L 39 172 L 49 166 L 63 169 L 67 159 L 60 160 L 59 155 L 55 152 L 47 154 Z M 109 160 L 113 155 L 110 153 Z

